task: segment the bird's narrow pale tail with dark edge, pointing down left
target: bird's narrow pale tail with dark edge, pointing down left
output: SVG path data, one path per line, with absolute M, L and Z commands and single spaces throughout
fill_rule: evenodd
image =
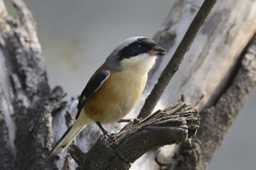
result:
M 84 114 L 80 114 L 76 122 L 68 128 L 65 134 L 61 137 L 60 141 L 52 148 L 49 157 L 58 155 L 63 152 L 76 136 L 88 125 L 88 121 L 84 121 Z

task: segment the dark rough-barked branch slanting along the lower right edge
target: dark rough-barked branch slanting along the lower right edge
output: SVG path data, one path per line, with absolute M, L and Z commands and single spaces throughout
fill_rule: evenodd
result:
M 211 108 L 200 113 L 201 125 L 192 143 L 182 143 L 170 169 L 207 169 L 225 134 L 256 85 L 256 34 L 241 60 L 236 78 Z

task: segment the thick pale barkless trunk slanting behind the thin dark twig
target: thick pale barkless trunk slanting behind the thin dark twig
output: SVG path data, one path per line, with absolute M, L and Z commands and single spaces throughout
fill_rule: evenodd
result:
M 156 67 L 150 72 L 140 104 L 130 113 L 131 117 L 137 116 L 143 101 L 179 45 L 202 2 L 178 1 L 154 36 L 154 40 L 168 50 L 169 55 L 157 60 Z M 240 53 L 256 31 L 255 16 L 255 0 L 246 3 L 241 0 L 218 1 L 155 110 L 177 103 L 182 96 L 185 102 L 192 103 L 199 111 L 212 106 L 227 88 L 228 80 L 234 76 L 232 71 L 236 69 L 234 66 L 239 61 Z M 151 161 L 138 160 L 132 164 L 131 169 L 156 167 L 154 160 L 158 152 L 159 159 L 173 155 L 172 146 L 159 150 L 145 155 Z M 159 166 L 156 167 L 158 168 Z

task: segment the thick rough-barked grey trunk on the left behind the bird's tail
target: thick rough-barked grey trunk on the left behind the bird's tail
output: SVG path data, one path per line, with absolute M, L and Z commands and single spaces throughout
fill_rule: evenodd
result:
M 13 1 L 19 20 L 10 17 L 1 1 L 1 51 L 8 76 L 14 114 L 15 169 L 56 169 L 48 153 L 52 145 L 51 113 L 65 95 L 61 87 L 49 88 L 36 36 L 35 21 L 22 1 Z M 13 130 L 13 129 L 12 129 Z M 10 159 L 11 161 L 12 159 Z

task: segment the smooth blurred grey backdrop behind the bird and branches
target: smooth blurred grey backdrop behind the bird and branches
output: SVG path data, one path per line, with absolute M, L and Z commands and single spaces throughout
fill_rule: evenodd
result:
M 175 1 L 24 0 L 35 17 L 51 87 L 61 85 L 67 99 L 86 82 L 120 41 L 152 38 Z M 13 12 L 10 0 L 4 0 Z M 254 169 L 256 89 L 232 125 L 209 166 Z M 254 134 L 254 135 L 253 135 Z

